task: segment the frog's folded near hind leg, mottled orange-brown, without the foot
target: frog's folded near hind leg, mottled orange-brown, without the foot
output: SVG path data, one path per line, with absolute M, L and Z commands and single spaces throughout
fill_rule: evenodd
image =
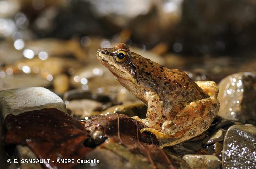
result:
M 174 119 L 169 120 L 166 117 L 162 131 L 171 136 L 191 135 L 195 137 L 209 128 L 218 114 L 219 105 L 215 97 L 191 102 L 177 113 Z

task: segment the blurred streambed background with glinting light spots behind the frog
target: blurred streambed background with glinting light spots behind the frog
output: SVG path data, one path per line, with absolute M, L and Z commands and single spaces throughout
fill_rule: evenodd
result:
M 126 43 L 194 80 L 219 82 L 256 70 L 255 30 L 255 0 L 0 0 L 0 90 L 42 86 L 70 109 L 90 99 L 102 110 L 137 100 L 97 49 Z

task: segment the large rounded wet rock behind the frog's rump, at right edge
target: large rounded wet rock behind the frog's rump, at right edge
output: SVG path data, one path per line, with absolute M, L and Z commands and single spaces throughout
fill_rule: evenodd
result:
M 246 123 L 256 119 L 256 73 L 239 72 L 219 83 L 219 115 Z M 255 121 L 255 120 L 254 120 Z

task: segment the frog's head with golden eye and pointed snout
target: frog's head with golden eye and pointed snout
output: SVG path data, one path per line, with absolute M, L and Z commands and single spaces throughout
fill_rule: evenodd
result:
M 119 80 L 129 80 L 136 83 L 136 66 L 131 62 L 129 47 L 120 43 L 113 48 L 103 48 L 97 51 L 97 59 L 105 65 Z

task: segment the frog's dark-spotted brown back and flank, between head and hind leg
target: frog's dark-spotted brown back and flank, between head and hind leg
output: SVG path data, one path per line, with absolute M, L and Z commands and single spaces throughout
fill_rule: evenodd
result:
M 137 59 L 137 78 L 142 86 L 156 91 L 166 112 L 179 104 L 209 97 L 189 76 L 178 69 L 159 65 L 149 59 Z M 141 64 L 142 63 L 142 64 Z

